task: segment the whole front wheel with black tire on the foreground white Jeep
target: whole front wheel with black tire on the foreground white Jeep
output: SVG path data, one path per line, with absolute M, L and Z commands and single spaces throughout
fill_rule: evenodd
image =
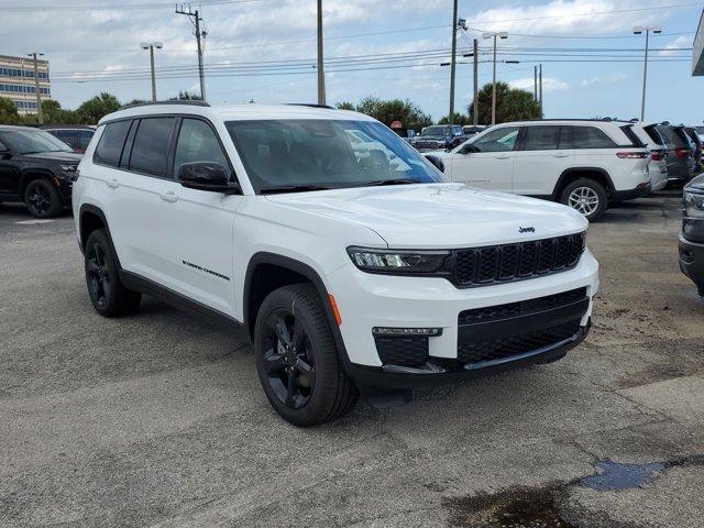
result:
M 264 394 L 289 424 L 310 427 L 349 413 L 359 397 L 338 359 L 317 290 L 294 284 L 272 292 L 254 327 Z

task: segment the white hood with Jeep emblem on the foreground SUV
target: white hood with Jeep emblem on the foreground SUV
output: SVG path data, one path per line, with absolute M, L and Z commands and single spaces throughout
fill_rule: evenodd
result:
M 398 249 L 524 242 L 576 233 L 588 226 L 584 217 L 565 206 L 463 184 L 356 187 L 271 195 L 267 199 L 364 226 Z

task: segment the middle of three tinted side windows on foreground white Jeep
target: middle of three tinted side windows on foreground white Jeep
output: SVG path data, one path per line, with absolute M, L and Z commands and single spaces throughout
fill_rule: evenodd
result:
M 164 176 L 175 122 L 174 118 L 146 118 L 140 121 L 132 145 L 130 170 Z

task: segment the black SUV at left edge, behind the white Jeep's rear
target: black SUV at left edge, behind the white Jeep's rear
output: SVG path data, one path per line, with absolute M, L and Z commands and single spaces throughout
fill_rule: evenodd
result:
M 0 125 L 0 202 L 23 201 L 37 218 L 59 215 L 80 158 L 43 130 Z

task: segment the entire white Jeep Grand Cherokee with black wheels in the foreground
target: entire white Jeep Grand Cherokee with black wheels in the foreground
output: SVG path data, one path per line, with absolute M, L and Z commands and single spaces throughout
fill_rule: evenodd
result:
M 375 151 L 355 150 L 361 132 Z M 101 120 L 74 184 L 96 310 L 142 294 L 243 324 L 288 421 L 547 363 L 581 342 L 598 286 L 587 222 L 446 183 L 360 113 L 145 105 Z

